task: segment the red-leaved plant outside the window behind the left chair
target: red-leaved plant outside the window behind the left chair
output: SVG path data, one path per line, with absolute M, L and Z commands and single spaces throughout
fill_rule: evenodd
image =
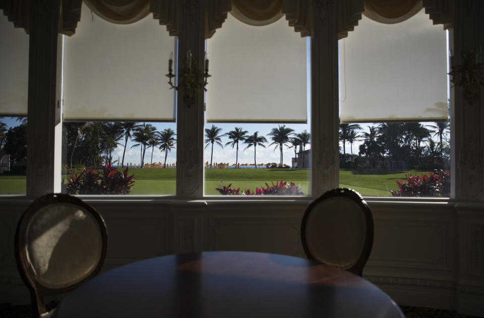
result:
M 128 176 L 128 168 L 123 173 L 110 165 L 102 167 L 101 172 L 84 168 L 79 175 L 74 171 L 69 176 L 66 191 L 68 194 L 129 194 L 135 179 L 134 175 Z

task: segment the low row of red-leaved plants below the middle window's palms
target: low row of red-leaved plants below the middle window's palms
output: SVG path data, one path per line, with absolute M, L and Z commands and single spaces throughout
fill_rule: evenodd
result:
M 227 187 L 220 185 L 220 187 L 215 188 L 220 194 L 222 195 L 304 195 L 301 189 L 296 186 L 293 182 L 277 182 L 275 185 L 272 183 L 272 186 L 269 186 L 266 183 L 266 188 L 256 188 L 256 191 L 252 191 L 251 189 L 245 189 L 240 191 L 240 188 L 234 189 L 230 188 L 232 184 L 229 184 Z

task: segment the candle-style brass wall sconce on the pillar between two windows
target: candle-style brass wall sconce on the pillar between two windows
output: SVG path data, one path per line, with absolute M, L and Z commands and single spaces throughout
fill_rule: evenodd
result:
M 181 80 L 178 83 L 178 86 L 174 86 L 172 83 L 172 78 L 176 75 L 173 74 L 173 52 L 170 53 L 170 58 L 168 59 L 168 74 L 166 74 L 165 76 L 169 79 L 168 84 L 170 85 L 170 90 L 175 89 L 178 91 L 179 89 L 183 89 L 183 98 L 188 106 L 191 106 L 195 103 L 195 96 L 197 92 L 202 89 L 207 92 L 207 89 L 205 88 L 208 84 L 207 78 L 211 76 L 208 73 L 207 52 L 205 52 L 204 66 L 205 71 L 199 71 L 197 67 L 197 59 L 192 58 L 192 51 L 188 50 L 185 68 L 181 73 Z

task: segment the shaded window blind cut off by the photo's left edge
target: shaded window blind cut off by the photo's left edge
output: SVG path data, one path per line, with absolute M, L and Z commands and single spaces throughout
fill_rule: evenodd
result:
M 29 36 L 0 16 L 0 116 L 27 116 Z

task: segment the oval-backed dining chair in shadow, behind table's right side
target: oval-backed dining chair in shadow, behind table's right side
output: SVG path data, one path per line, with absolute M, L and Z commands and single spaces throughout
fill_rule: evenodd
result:
M 338 188 L 306 209 L 302 247 L 309 259 L 361 276 L 373 246 L 373 217 L 361 195 Z

